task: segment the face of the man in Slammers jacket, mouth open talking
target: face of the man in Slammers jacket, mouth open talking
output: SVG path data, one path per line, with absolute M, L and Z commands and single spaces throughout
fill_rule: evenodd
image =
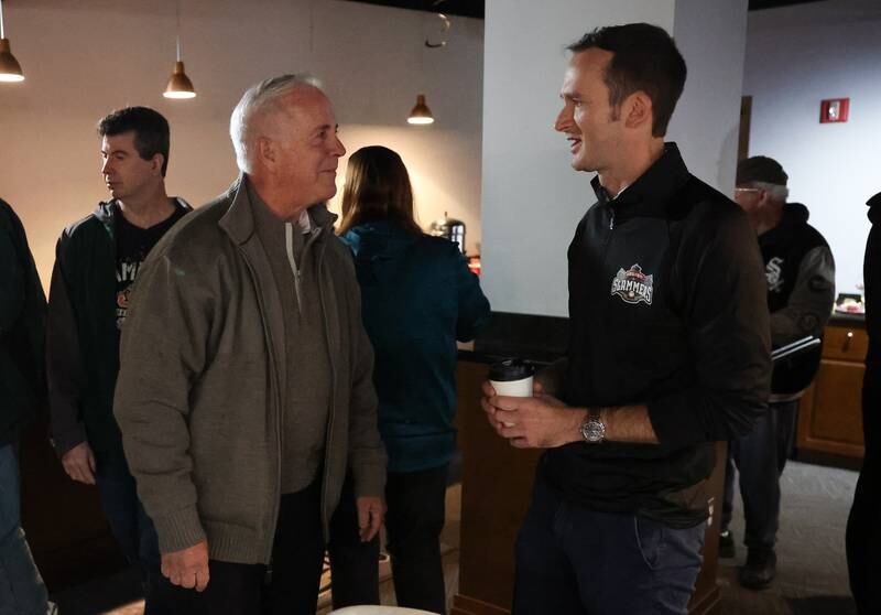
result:
M 563 78 L 563 109 L 554 129 L 566 134 L 576 171 L 607 172 L 622 148 L 623 122 L 609 105 L 603 75 L 611 52 L 588 48 L 569 61 Z

